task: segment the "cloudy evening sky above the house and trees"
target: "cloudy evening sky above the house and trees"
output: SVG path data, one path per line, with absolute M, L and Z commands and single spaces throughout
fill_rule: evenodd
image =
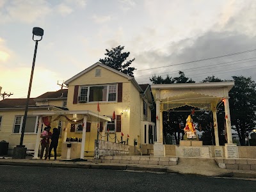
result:
M 196 82 L 207 76 L 256 80 L 255 13 L 254 0 L 0 0 L 2 93 L 27 97 L 33 27 L 43 28 L 44 37 L 31 97 L 59 90 L 58 81 L 118 45 L 135 58 L 139 84 L 150 83 L 155 74 L 177 77 L 179 70 Z M 233 55 L 215 58 L 227 54 Z M 204 61 L 187 63 L 196 60 Z

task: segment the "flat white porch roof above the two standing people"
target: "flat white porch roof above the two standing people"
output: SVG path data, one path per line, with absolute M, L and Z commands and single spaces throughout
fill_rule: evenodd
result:
M 88 122 L 110 122 L 111 118 L 106 116 L 98 115 L 97 113 L 93 113 L 92 111 L 40 111 L 33 112 L 33 115 L 42 115 L 42 116 L 52 116 L 52 119 L 56 118 L 58 115 L 65 115 L 68 118 L 74 118 L 74 115 L 77 116 L 77 120 L 79 118 L 83 118 L 83 116 L 87 116 Z

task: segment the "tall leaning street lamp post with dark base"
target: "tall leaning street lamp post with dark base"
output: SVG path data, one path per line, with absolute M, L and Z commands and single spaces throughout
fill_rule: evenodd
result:
M 29 81 L 28 97 L 26 100 L 26 108 L 25 108 L 25 113 L 24 113 L 24 118 L 23 118 L 22 128 L 21 128 L 20 145 L 17 145 L 17 147 L 13 148 L 13 158 L 14 159 L 25 159 L 26 158 L 27 148 L 25 148 L 25 146 L 23 145 L 24 131 L 25 131 L 26 120 L 27 120 L 27 116 L 28 116 L 29 97 L 30 97 L 31 85 L 32 85 L 34 68 L 35 68 L 37 45 L 38 45 L 38 42 L 40 42 L 40 40 L 42 40 L 42 38 L 43 38 L 44 29 L 33 28 L 32 33 L 33 33 L 33 41 L 36 42 L 36 44 L 35 44 L 34 58 L 33 58 L 33 64 L 32 64 L 32 68 L 31 68 L 31 75 L 30 75 L 30 81 Z M 39 39 L 35 39 L 35 36 L 39 36 Z

